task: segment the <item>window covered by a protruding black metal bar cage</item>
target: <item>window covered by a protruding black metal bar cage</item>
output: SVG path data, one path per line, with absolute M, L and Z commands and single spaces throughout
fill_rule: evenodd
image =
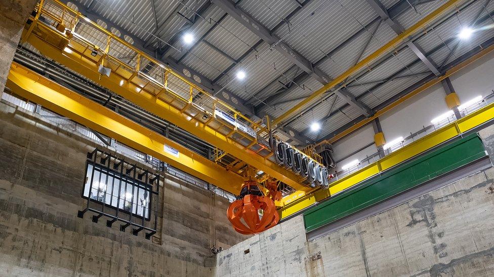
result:
M 90 211 L 94 222 L 105 216 L 106 226 L 120 221 L 120 231 L 131 226 L 137 236 L 145 230 L 147 239 L 156 233 L 159 174 L 95 149 L 88 153 L 85 177 L 81 194 L 87 204 L 77 216 Z

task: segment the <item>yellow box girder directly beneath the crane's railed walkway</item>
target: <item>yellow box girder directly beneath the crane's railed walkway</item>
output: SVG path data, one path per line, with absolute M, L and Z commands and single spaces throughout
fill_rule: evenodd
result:
M 77 49 L 71 48 L 70 43 L 64 45 L 69 51 L 62 50 L 64 48 L 60 47 L 60 43 L 67 40 L 65 35 L 35 20 L 31 24 L 36 24 L 36 27 L 31 33 L 27 33 L 25 29 L 23 39 L 26 39 L 27 42 L 45 56 L 134 102 L 148 110 L 148 112 L 217 146 L 241 161 L 252 165 L 252 167 L 262 170 L 283 183 L 298 190 L 310 190 L 310 188 L 301 183 L 300 176 L 295 175 L 292 171 L 280 167 L 267 157 L 263 157 L 251 149 L 246 149 L 232 138 L 211 128 L 207 123 L 205 124 L 185 115 L 176 106 L 171 105 L 169 102 L 164 101 L 162 98 L 157 97 L 134 82 L 129 82 L 129 79 L 113 72 L 109 77 L 99 74 L 98 63 L 93 59 L 94 57 L 88 57 L 85 53 L 80 53 Z

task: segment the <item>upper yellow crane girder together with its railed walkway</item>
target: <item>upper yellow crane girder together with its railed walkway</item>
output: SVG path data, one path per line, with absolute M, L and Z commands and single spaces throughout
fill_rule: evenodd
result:
M 305 178 L 272 157 L 269 130 L 208 94 L 58 0 L 41 1 L 22 34 L 45 56 L 235 157 L 232 171 L 251 167 L 309 191 Z M 117 57 L 125 53 L 130 59 Z M 111 73 L 110 73 L 111 72 Z M 295 152 L 300 152 L 293 148 Z M 312 162 L 319 164 L 311 157 Z M 235 168 L 236 166 L 236 168 Z

